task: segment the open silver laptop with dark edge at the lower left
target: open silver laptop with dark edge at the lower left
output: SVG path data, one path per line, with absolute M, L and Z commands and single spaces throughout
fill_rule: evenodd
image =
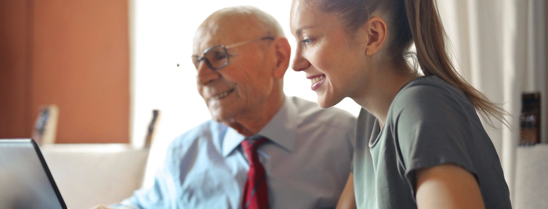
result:
M 67 209 L 31 139 L 0 139 L 0 208 Z

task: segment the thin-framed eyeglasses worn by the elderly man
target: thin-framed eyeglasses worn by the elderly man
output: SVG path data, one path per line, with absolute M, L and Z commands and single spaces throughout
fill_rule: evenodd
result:
M 266 36 L 266 37 L 247 40 L 245 42 L 240 42 L 240 43 L 235 43 L 230 45 L 216 45 L 204 50 L 203 56 L 192 55 L 192 63 L 194 63 L 194 66 L 196 67 L 196 69 L 198 69 L 198 65 L 200 61 L 203 60 L 206 62 L 206 65 L 209 68 L 213 70 L 220 69 L 222 67 L 225 67 L 226 65 L 229 65 L 230 56 L 226 52 L 226 49 L 230 49 L 232 47 L 238 47 L 239 45 L 243 45 L 243 44 L 257 42 L 259 40 L 274 40 L 274 37 Z

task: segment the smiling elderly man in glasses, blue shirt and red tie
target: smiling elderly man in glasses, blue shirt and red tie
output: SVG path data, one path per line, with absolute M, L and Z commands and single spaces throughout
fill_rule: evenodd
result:
M 175 138 L 152 188 L 119 208 L 334 208 L 350 173 L 356 119 L 283 92 L 290 47 L 253 7 L 216 11 L 193 41 L 213 120 Z

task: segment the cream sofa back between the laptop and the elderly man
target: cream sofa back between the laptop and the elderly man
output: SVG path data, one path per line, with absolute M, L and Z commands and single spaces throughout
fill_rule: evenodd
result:
M 71 209 L 128 198 L 141 187 L 149 154 L 129 144 L 50 144 L 41 150 Z

